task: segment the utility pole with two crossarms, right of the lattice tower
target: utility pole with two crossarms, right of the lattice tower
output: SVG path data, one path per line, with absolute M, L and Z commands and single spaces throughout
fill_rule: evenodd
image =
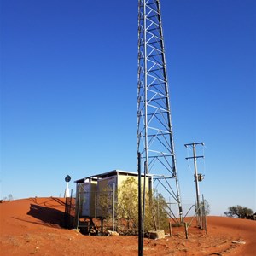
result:
M 204 158 L 203 155 L 196 155 L 196 150 L 195 147 L 196 145 L 202 145 L 204 146 L 204 143 L 189 143 L 189 144 L 185 144 L 184 146 L 186 148 L 188 148 L 189 146 L 191 146 L 193 148 L 193 156 L 190 157 L 186 157 L 186 160 L 189 159 L 193 159 L 194 160 L 194 182 L 195 182 L 195 193 L 196 193 L 196 215 L 198 217 L 198 224 L 199 226 L 201 226 L 201 203 L 200 203 L 200 191 L 199 191 L 199 182 L 201 182 L 203 180 L 203 175 L 200 173 L 197 173 L 197 165 L 196 165 L 196 160 L 198 158 Z

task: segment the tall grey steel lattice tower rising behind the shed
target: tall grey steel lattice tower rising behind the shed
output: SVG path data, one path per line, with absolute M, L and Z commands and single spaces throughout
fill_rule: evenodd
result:
M 138 1 L 137 152 L 182 217 L 160 0 Z

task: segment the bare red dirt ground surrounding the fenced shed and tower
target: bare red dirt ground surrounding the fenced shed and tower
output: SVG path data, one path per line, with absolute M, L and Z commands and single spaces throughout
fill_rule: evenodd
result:
M 0 204 L 1 255 L 137 255 L 136 236 L 84 236 L 61 228 L 64 200 L 28 198 Z M 256 221 L 207 217 L 207 231 L 192 224 L 172 237 L 144 239 L 144 255 L 256 255 Z M 234 243 L 242 241 L 244 243 Z

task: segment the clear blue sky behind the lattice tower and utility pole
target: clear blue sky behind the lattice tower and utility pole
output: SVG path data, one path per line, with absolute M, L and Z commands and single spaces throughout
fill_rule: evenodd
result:
M 256 211 L 255 1 L 161 7 L 183 203 L 195 195 L 183 144 L 204 142 L 211 213 Z M 67 174 L 136 172 L 137 1 L 1 0 L 0 19 L 0 197 L 63 195 Z

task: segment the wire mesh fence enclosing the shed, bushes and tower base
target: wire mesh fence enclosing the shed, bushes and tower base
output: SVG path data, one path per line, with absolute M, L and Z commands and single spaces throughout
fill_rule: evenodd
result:
M 127 197 L 126 203 L 119 201 L 116 191 L 109 188 L 104 191 L 84 191 L 80 192 L 75 198 L 66 199 L 65 209 L 65 227 L 68 229 L 84 230 L 84 233 L 103 233 L 108 230 L 118 231 L 119 234 L 137 234 L 138 233 L 138 213 L 137 201 L 135 198 Z M 146 216 L 148 227 L 166 230 L 169 223 L 180 224 L 178 218 L 171 216 L 177 212 L 177 206 L 171 206 L 171 203 L 154 202 L 154 211 L 150 211 Z M 188 211 L 183 216 L 183 222 L 187 222 L 187 228 L 192 223 L 201 230 L 207 232 L 207 213 L 204 200 L 199 208 L 194 205 L 187 205 Z M 165 213 L 163 213 L 165 212 Z M 165 216 L 167 218 L 163 219 Z M 154 219 L 154 222 L 153 222 Z M 188 221 L 187 221 L 188 220 Z M 154 224 L 153 224 L 154 223 Z

